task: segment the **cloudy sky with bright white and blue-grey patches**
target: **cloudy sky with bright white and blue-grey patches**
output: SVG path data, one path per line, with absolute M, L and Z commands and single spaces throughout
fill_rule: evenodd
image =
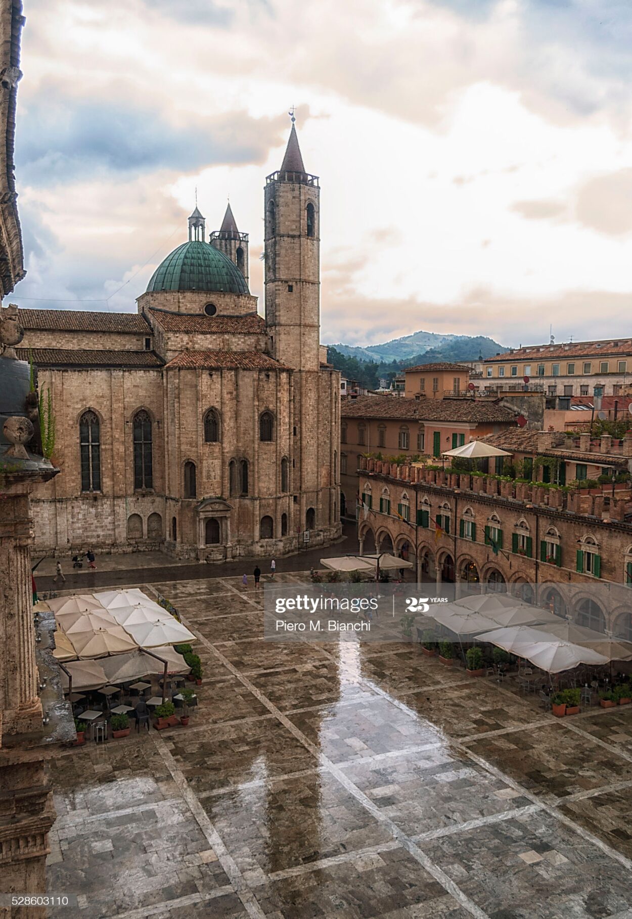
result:
M 133 311 L 230 195 L 263 312 L 288 107 L 322 340 L 630 334 L 629 0 L 25 0 L 22 306 Z

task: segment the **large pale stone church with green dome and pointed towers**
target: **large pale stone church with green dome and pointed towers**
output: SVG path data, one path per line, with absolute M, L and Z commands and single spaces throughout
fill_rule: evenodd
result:
M 320 187 L 296 128 L 265 179 L 265 318 L 229 204 L 156 268 L 135 313 L 20 310 L 51 392 L 35 552 L 223 562 L 341 534 L 340 379 L 320 345 Z

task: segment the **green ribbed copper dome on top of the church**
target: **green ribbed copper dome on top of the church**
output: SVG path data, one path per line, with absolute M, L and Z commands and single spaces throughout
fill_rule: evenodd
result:
M 223 290 L 249 293 L 242 272 L 209 243 L 179 245 L 153 272 L 147 290 Z

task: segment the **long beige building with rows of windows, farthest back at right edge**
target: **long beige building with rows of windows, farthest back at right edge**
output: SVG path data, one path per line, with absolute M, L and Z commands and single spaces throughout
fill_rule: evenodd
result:
M 512 391 L 539 385 L 549 396 L 621 395 L 632 389 L 632 339 L 512 348 L 483 361 L 480 389 Z

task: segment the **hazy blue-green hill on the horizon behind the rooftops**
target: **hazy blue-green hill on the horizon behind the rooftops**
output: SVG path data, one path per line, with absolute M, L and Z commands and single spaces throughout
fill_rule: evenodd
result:
M 402 338 L 393 338 L 383 345 L 331 345 L 330 347 L 345 357 L 356 357 L 362 361 L 375 361 L 378 364 L 390 364 L 392 361 L 410 361 L 416 363 L 439 360 L 476 360 L 493 357 L 506 347 L 499 345 L 485 335 L 440 335 L 435 332 L 415 332 Z M 420 360 L 417 360 L 417 358 Z

